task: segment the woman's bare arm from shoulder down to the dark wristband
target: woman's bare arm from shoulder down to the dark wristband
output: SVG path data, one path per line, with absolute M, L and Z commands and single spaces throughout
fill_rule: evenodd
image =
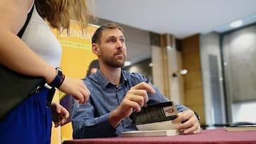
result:
M 53 81 L 55 68 L 41 60 L 16 35 L 26 21 L 32 0 L 1 0 L 0 1 L 0 63 L 16 72 L 46 78 Z

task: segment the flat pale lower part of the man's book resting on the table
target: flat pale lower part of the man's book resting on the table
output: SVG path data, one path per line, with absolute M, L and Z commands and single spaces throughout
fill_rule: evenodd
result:
M 139 137 L 139 136 L 172 136 L 180 135 L 183 131 L 178 130 L 155 130 L 155 131 L 127 131 L 121 133 L 122 137 Z

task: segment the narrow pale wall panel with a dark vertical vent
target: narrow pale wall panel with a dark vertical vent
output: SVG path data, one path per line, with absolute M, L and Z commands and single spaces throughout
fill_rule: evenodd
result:
M 223 70 L 220 55 L 220 36 L 208 33 L 200 36 L 200 55 L 203 78 L 203 98 L 206 124 L 226 123 Z

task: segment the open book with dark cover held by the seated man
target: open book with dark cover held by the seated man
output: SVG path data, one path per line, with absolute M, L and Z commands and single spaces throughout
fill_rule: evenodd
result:
M 171 123 L 177 117 L 178 113 L 173 101 L 148 105 L 139 112 L 134 111 L 130 116 L 138 131 L 123 132 L 121 136 L 180 135 L 183 131 L 176 130 L 176 126 L 180 123 Z

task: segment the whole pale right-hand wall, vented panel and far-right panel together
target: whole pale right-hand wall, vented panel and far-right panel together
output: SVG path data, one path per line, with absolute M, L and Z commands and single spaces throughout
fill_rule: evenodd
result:
M 256 25 L 201 35 L 206 124 L 256 121 Z

